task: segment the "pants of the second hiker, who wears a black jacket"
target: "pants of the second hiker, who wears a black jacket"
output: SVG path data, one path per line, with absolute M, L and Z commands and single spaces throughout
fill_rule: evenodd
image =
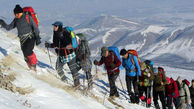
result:
M 61 77 L 62 81 L 65 81 L 67 79 L 67 77 L 65 76 L 64 71 L 63 71 L 64 65 L 65 65 L 65 63 L 62 63 L 60 61 L 60 58 L 58 57 L 57 62 L 56 62 L 56 70 L 57 70 L 57 73 L 59 74 L 59 76 Z M 79 74 L 78 74 L 78 70 L 77 70 L 78 65 L 76 63 L 76 58 L 73 58 L 70 62 L 67 63 L 67 65 L 72 73 L 74 86 L 80 85 Z

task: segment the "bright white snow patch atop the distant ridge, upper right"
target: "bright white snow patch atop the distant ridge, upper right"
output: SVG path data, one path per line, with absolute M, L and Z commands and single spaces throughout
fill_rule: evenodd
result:
M 157 25 L 150 25 L 146 30 L 142 31 L 141 34 L 146 36 L 147 33 L 157 33 L 162 34 L 164 31 L 166 31 L 167 27 L 157 26 Z

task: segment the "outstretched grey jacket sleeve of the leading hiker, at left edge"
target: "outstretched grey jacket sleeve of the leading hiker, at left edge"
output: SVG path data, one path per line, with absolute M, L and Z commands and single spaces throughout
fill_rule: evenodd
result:
M 7 31 L 12 30 L 12 29 L 14 29 L 16 27 L 16 25 L 15 25 L 16 19 L 14 19 L 9 25 L 6 24 L 5 21 L 2 20 L 2 19 L 0 19 L 0 21 L 1 21 L 0 22 L 1 26 L 3 28 L 5 28 Z

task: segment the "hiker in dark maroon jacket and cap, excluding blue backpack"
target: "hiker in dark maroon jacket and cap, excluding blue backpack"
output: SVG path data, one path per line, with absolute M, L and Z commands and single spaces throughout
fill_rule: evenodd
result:
M 97 60 L 94 60 L 94 64 L 98 66 L 105 64 L 110 84 L 110 97 L 119 97 L 115 81 L 120 72 L 119 66 L 121 65 L 121 61 L 118 59 L 116 54 L 114 52 L 109 51 L 107 47 L 101 48 L 101 56 L 102 57 L 99 62 Z

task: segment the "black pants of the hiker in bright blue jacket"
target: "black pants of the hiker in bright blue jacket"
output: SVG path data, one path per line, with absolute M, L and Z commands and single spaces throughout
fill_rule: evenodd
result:
M 137 77 L 130 77 L 126 75 L 126 85 L 127 85 L 127 91 L 129 94 L 129 97 L 131 99 L 132 103 L 139 103 L 139 91 L 138 91 L 138 82 Z M 132 92 L 132 84 L 134 92 Z

